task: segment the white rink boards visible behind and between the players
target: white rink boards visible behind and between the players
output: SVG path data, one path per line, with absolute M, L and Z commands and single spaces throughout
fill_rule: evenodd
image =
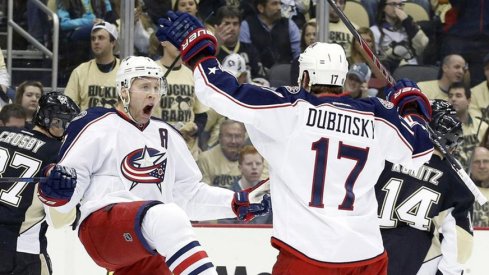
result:
M 277 250 L 270 245 L 270 227 L 195 227 L 199 242 L 217 266 L 219 275 L 271 274 Z M 466 265 L 468 275 L 487 275 L 489 228 L 474 232 L 474 250 Z M 70 229 L 49 229 L 48 251 L 53 262 L 53 275 L 105 275 L 86 254 Z

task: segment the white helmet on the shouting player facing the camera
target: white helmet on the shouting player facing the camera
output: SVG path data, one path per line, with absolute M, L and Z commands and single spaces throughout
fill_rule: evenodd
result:
M 163 70 L 151 58 L 145 56 L 128 56 L 121 61 L 121 66 L 115 77 L 116 90 L 121 97 L 123 89 L 131 89 L 132 82 L 138 77 L 152 77 L 160 80 L 160 96 L 167 92 L 166 78 Z M 122 99 L 122 97 L 121 97 Z M 124 99 L 122 99 L 124 102 Z

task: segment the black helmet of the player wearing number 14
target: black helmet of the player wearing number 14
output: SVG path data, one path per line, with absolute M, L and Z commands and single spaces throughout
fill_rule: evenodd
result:
M 457 112 L 450 103 L 441 99 L 431 101 L 431 109 L 433 118 L 429 123 L 430 128 L 442 146 L 448 150 L 455 149 L 462 143 L 462 123 L 458 120 Z

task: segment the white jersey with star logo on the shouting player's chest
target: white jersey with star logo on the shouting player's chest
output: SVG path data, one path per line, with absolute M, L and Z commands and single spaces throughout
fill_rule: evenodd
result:
M 141 200 L 174 202 L 191 220 L 235 217 L 234 193 L 201 182 L 182 136 L 158 119 L 141 130 L 115 109 L 88 109 L 70 123 L 58 163 L 75 168 L 78 180 L 57 210 L 81 203 L 81 221 L 106 205 Z

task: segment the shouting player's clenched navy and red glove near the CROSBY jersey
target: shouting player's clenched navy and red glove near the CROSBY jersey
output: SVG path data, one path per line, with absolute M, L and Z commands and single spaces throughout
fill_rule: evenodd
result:
M 39 182 L 39 199 L 51 207 L 68 203 L 76 187 L 75 169 L 52 163 L 44 168 L 43 174 L 47 178 Z

